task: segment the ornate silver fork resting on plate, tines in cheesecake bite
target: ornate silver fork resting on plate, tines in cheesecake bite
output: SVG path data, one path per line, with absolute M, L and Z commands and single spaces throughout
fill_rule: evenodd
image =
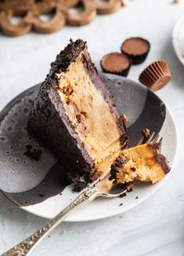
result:
M 153 132 L 145 143 L 154 143 L 157 142 L 158 139 L 159 135 L 157 134 L 155 136 L 155 133 Z M 142 142 L 143 137 L 140 139 L 137 145 L 142 144 Z M 94 188 L 89 188 L 87 191 L 82 192 L 81 195 L 74 199 L 72 203 L 70 203 L 64 210 L 62 210 L 60 214 L 56 215 L 55 218 L 50 220 L 44 227 L 39 229 L 37 232 L 34 232 L 32 236 L 28 237 L 26 240 L 23 240 L 9 251 L 6 251 L 4 254 L 2 254 L 2 256 L 30 255 L 31 251 L 34 250 L 38 243 L 40 243 L 41 240 L 44 240 L 45 237 L 48 236 L 53 229 L 60 225 L 60 223 L 67 217 L 67 215 L 76 208 L 91 202 L 98 196 L 116 198 L 127 192 L 127 188 L 121 188 L 117 184 L 114 184 L 113 180 L 110 181 L 109 177 L 110 173 L 106 174 L 106 176 L 103 177 L 101 181 L 96 183 Z

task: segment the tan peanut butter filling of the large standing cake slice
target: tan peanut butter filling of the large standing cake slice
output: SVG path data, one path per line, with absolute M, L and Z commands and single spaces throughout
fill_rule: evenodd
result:
M 60 80 L 58 93 L 70 122 L 95 165 L 106 159 L 105 166 L 110 168 L 115 159 L 111 155 L 121 148 L 120 128 L 114 113 L 92 83 L 80 55 L 67 71 L 57 75 Z

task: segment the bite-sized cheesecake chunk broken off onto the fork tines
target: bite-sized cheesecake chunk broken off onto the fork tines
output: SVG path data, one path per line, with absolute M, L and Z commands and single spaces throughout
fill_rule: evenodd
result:
M 154 184 L 161 181 L 169 171 L 168 160 L 161 155 L 161 142 L 155 142 L 120 152 L 110 173 L 117 183 L 143 181 Z

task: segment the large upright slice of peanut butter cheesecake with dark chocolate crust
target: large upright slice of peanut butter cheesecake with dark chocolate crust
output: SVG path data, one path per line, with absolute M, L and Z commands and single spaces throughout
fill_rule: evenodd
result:
M 127 137 L 86 42 L 70 41 L 51 64 L 27 130 L 71 170 L 87 170 L 93 178 L 110 170 Z

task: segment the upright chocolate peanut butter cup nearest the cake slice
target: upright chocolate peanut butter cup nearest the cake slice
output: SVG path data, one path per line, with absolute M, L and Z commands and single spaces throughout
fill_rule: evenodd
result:
M 109 53 L 100 61 L 104 73 L 127 76 L 131 67 L 131 60 L 121 53 Z

